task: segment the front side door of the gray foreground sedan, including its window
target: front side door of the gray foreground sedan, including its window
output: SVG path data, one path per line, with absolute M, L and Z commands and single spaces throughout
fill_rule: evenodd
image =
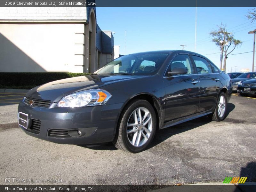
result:
M 175 67 L 187 68 L 187 74 L 168 76 Z M 165 122 L 198 112 L 200 82 L 188 54 L 176 55 L 164 75 Z

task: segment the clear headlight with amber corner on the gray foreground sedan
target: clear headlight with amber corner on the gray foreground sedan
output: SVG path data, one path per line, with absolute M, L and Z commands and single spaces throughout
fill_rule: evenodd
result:
M 57 107 L 85 107 L 104 105 L 110 99 L 111 94 L 102 89 L 90 89 L 76 92 L 63 97 Z

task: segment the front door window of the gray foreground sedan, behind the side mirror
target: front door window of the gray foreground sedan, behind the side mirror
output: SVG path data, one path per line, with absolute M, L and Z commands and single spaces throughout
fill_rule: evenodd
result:
M 180 54 L 175 56 L 171 64 L 168 66 L 165 76 L 168 76 L 167 73 L 171 72 L 174 68 L 185 68 L 188 71 L 187 74 L 177 75 L 194 74 L 193 67 L 187 54 Z

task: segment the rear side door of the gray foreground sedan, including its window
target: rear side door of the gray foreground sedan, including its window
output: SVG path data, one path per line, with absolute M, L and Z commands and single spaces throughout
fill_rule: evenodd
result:
M 220 90 L 220 72 L 213 69 L 203 57 L 191 55 L 200 81 L 199 112 L 215 108 Z M 215 67 L 216 68 L 216 67 Z M 214 70 L 214 71 L 213 71 Z

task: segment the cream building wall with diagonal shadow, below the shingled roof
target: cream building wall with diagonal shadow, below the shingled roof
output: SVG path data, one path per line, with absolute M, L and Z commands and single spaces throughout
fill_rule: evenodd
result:
M 83 72 L 84 24 L 0 23 L 1 72 Z

